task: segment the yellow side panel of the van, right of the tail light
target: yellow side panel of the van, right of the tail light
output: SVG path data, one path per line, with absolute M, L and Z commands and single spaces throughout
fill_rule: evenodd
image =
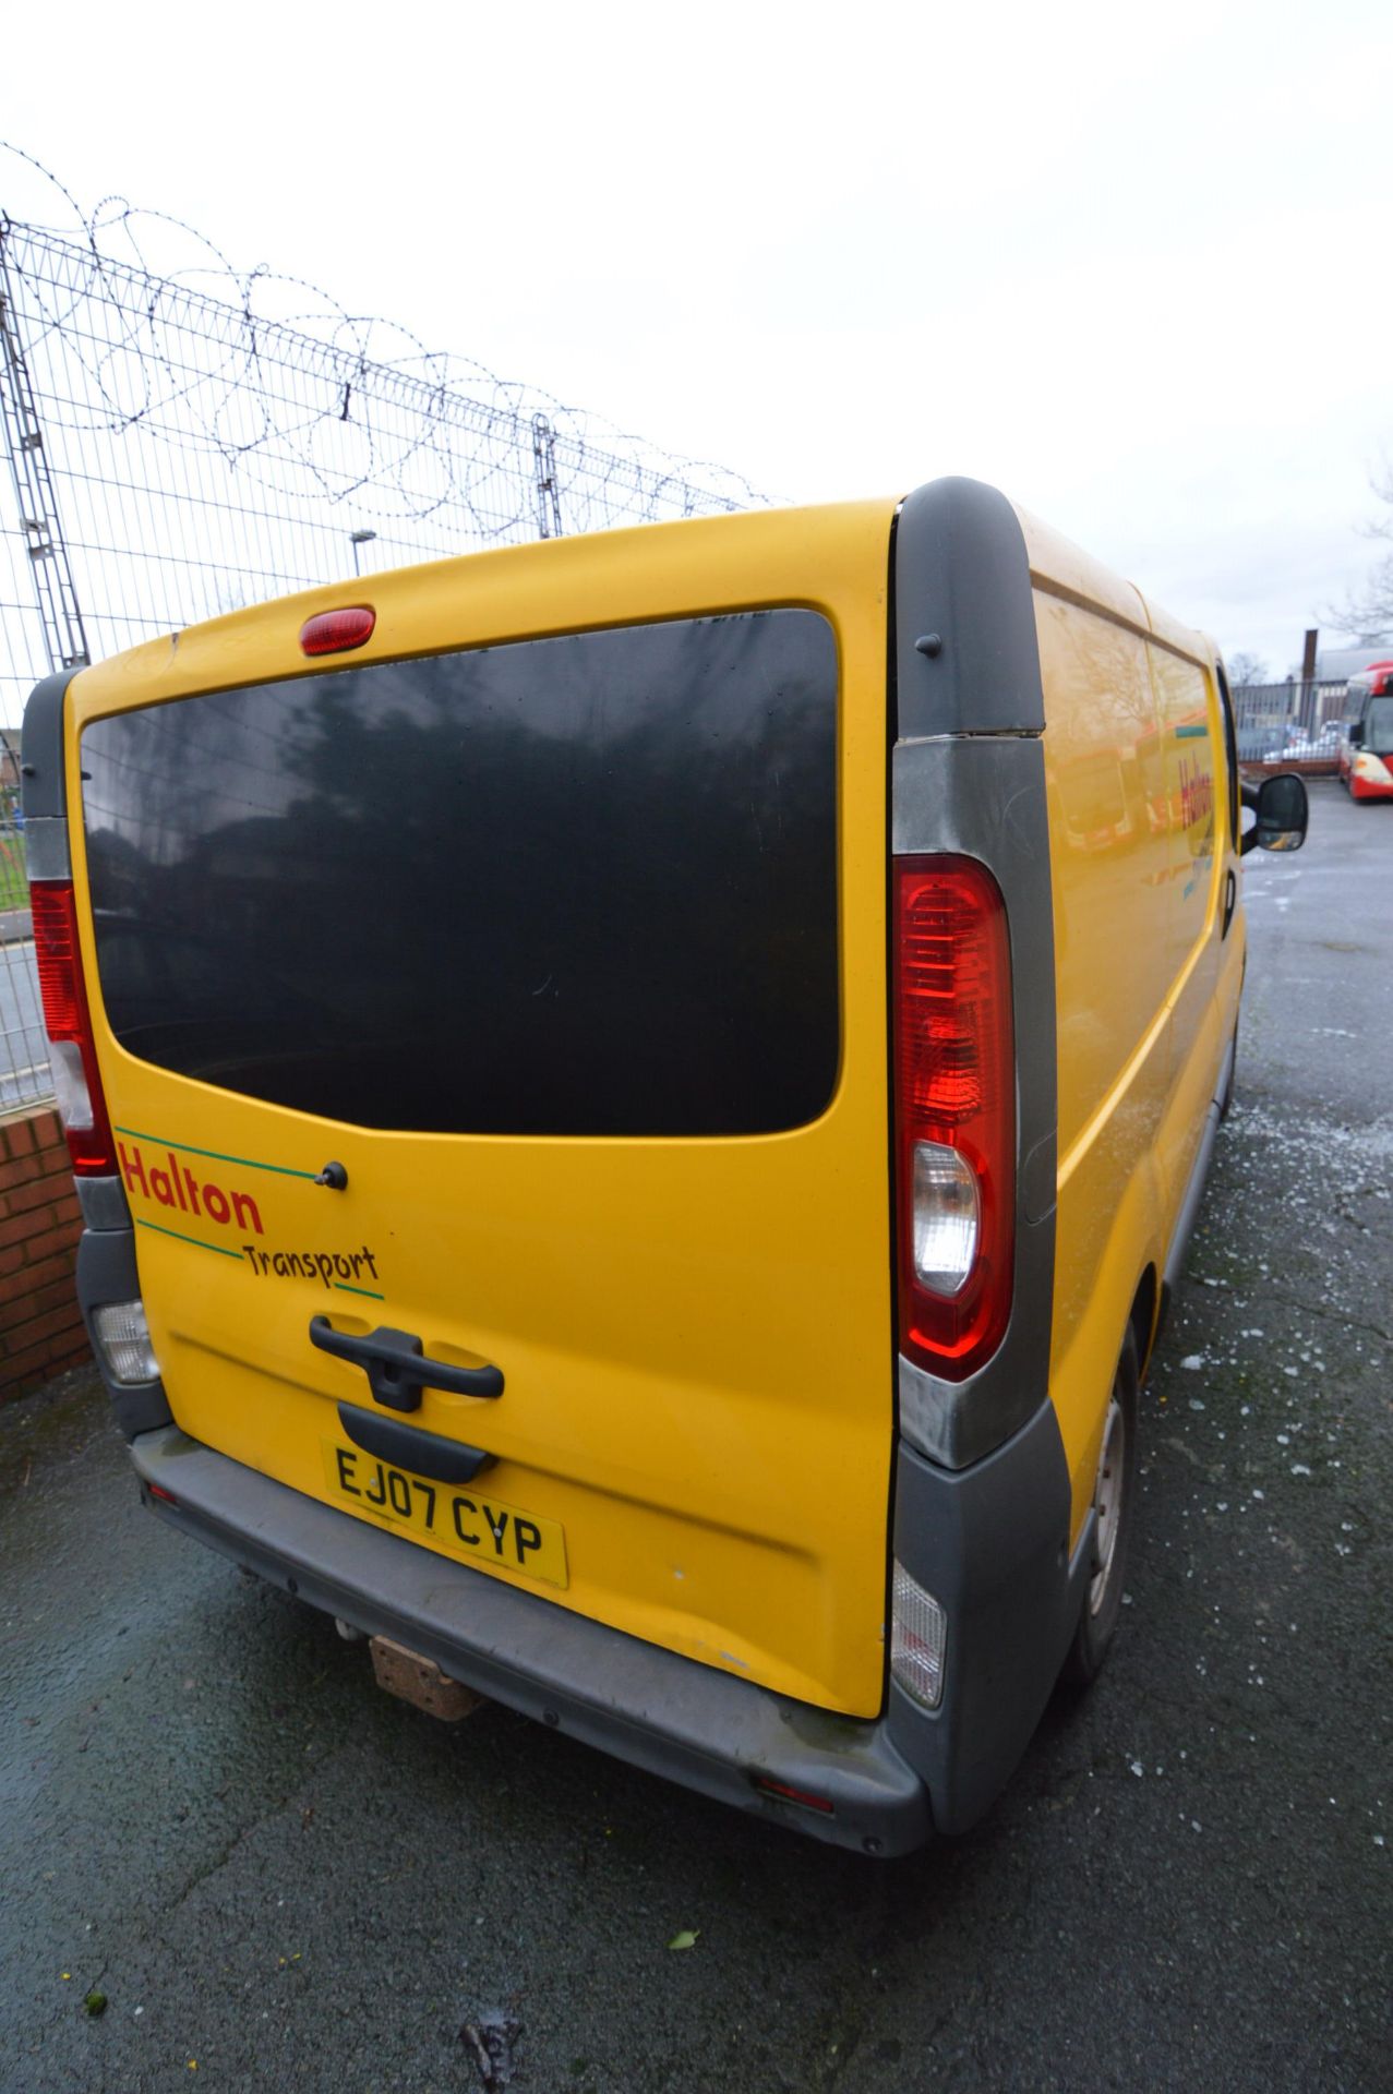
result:
M 1131 1305 L 1165 1256 L 1238 1018 L 1209 641 L 1018 511 L 1045 691 L 1060 1162 L 1049 1388 L 1075 1537 Z

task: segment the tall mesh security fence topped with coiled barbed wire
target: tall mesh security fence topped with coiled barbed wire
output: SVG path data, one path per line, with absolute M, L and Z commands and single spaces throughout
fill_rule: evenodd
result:
M 0 209 L 0 729 L 50 668 L 243 603 L 765 503 L 314 285 L 237 270 L 165 214 L 82 214 L 0 151 L 0 205 L 6 170 L 38 172 L 69 220 Z M 0 735 L 0 926 L 23 900 L 13 771 Z M 29 972 L 0 942 L 0 1110 L 46 1091 Z

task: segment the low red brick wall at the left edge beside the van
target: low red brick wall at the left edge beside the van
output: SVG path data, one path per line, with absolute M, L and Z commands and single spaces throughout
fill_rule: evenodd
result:
M 78 1313 L 82 1210 L 59 1116 L 0 1116 L 0 1403 L 88 1357 Z

